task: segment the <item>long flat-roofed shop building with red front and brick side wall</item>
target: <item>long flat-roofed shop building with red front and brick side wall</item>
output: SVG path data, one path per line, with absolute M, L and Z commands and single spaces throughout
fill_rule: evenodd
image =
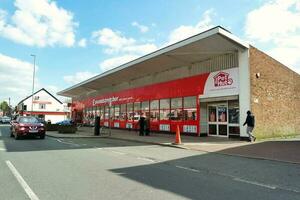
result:
M 151 131 L 247 137 L 251 110 L 259 137 L 300 134 L 300 75 L 218 26 L 58 93 L 72 117 Z

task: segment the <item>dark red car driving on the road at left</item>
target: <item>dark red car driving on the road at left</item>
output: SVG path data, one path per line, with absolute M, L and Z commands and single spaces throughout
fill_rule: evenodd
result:
M 45 126 L 40 123 L 35 117 L 18 117 L 17 120 L 11 122 L 11 137 L 16 140 L 23 136 L 39 136 L 41 139 L 45 138 Z

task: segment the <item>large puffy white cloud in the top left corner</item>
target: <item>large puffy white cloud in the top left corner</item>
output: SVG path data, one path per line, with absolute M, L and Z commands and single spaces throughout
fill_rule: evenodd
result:
M 0 11 L 0 36 L 29 46 L 73 46 L 75 43 L 73 14 L 52 0 L 16 0 L 17 10 L 8 23 L 8 15 Z

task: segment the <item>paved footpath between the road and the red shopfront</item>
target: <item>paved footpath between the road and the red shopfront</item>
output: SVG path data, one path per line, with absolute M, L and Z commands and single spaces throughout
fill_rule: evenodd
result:
M 292 139 L 273 139 L 254 143 L 220 137 L 181 136 L 181 145 L 174 145 L 175 134 L 150 133 L 150 136 L 139 136 L 138 131 L 111 129 L 94 136 L 92 127 L 80 127 L 75 134 L 60 134 L 57 131 L 47 131 L 47 136 L 55 138 L 110 138 L 141 142 L 176 148 L 242 156 L 256 159 L 275 160 L 300 164 L 300 136 Z

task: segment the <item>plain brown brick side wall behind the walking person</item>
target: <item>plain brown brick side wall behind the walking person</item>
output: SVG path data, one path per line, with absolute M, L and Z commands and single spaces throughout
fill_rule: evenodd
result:
M 300 75 L 254 47 L 250 47 L 249 65 L 255 134 L 300 134 Z

